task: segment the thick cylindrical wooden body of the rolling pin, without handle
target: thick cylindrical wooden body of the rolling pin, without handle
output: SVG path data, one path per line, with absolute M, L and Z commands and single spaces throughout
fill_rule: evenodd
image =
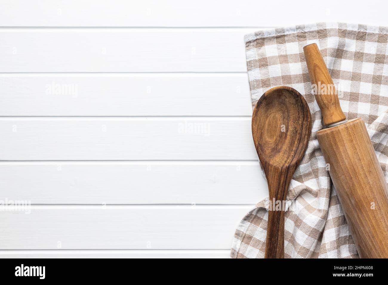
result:
M 317 132 L 320 148 L 361 258 L 388 258 L 388 191 L 365 123 Z

